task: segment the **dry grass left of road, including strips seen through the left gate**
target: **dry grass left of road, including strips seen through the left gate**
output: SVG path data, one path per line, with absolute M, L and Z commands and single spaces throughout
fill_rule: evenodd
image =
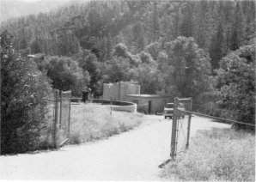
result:
M 53 104 L 46 113 L 47 127 L 41 133 L 40 149 L 53 147 Z M 110 106 L 101 104 L 71 105 L 70 144 L 85 143 L 125 132 L 135 128 L 146 120 L 141 113 L 114 112 L 110 114 Z M 59 125 L 58 125 L 59 127 Z M 67 137 L 58 129 L 58 143 Z

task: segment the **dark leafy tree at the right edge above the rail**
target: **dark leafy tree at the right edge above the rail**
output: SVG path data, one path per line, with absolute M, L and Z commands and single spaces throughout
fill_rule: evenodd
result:
M 222 94 L 220 105 L 238 121 L 255 124 L 255 45 L 229 53 L 220 65 L 216 85 Z M 243 124 L 234 126 L 247 128 Z

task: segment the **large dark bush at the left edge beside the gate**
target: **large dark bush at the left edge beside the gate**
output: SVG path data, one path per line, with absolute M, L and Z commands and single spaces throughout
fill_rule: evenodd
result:
M 1 33 L 1 66 L 1 152 L 38 149 L 50 85 L 32 60 L 15 53 L 6 31 Z

